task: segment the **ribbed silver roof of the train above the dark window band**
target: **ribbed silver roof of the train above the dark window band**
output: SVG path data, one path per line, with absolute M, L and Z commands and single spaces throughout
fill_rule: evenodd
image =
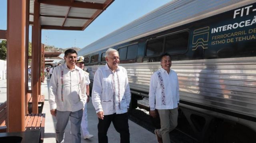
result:
M 253 2 L 255 1 L 173 0 L 87 45 L 78 51 L 78 55 L 94 53 L 147 35 L 214 16 L 243 5 L 252 4 Z

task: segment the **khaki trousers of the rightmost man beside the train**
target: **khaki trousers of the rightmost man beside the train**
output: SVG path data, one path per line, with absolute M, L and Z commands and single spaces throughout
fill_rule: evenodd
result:
M 163 143 L 170 143 L 169 132 L 178 125 L 178 108 L 157 110 L 160 116 L 161 129 L 157 129 L 157 134 L 162 137 Z

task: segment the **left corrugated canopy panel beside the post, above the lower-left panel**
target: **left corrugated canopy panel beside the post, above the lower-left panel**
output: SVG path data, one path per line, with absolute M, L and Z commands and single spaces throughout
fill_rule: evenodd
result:
M 48 4 L 40 4 L 40 14 L 50 16 L 65 16 L 68 11 L 67 6 L 53 6 Z

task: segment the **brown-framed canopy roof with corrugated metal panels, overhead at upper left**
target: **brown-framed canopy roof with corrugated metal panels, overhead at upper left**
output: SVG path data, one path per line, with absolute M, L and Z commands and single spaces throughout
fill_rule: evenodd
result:
M 114 0 L 37 0 L 42 29 L 84 30 Z M 29 22 L 34 22 L 34 0 L 30 0 Z

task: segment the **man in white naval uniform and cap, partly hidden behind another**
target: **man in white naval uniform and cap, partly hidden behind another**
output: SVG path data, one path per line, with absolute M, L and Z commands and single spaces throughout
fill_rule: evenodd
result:
M 82 70 L 84 70 L 84 57 L 83 56 L 77 57 L 76 66 L 80 67 Z M 82 117 L 81 127 L 82 127 L 82 131 L 83 131 L 84 139 L 89 139 L 91 137 L 94 137 L 93 135 L 90 135 L 90 133 L 89 133 L 88 119 L 87 119 L 87 103 L 90 100 L 90 88 L 89 88 L 90 79 L 89 79 L 89 73 L 86 71 L 84 71 L 84 73 L 85 73 L 85 79 L 86 79 L 87 101 L 84 104 L 84 113 L 83 113 L 83 117 Z

